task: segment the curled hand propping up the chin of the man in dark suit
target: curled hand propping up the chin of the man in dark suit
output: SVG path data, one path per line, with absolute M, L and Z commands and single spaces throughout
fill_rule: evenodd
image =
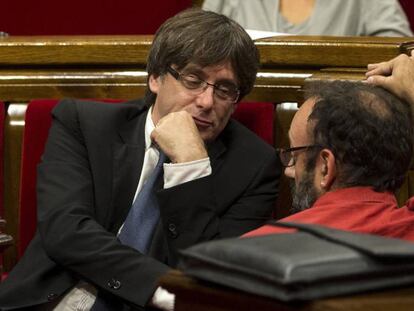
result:
M 197 126 L 186 111 L 172 112 L 161 118 L 151 139 L 173 163 L 184 163 L 208 157 Z

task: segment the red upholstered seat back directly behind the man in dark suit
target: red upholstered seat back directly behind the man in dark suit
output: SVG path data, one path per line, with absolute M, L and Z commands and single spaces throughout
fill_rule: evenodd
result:
M 17 245 L 19 258 L 36 230 L 36 166 L 51 125 L 50 111 L 57 102 L 54 99 L 32 100 L 26 110 L 20 184 L 20 243 Z M 240 103 L 234 118 L 273 144 L 273 114 L 271 103 Z

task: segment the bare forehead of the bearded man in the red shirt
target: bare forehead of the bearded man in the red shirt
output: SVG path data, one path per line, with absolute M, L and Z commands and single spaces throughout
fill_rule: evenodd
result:
M 293 117 L 289 129 L 289 141 L 291 147 L 305 146 L 312 144 L 309 133 L 308 118 L 315 105 L 315 99 L 306 100 Z

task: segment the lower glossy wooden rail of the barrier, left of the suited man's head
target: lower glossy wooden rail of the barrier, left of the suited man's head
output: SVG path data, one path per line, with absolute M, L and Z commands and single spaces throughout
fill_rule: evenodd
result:
M 0 69 L 0 98 L 9 102 L 63 97 L 132 99 L 144 96 L 146 79 L 146 72 L 139 69 Z

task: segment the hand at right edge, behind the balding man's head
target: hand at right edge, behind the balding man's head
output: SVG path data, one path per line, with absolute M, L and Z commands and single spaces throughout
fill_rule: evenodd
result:
M 388 62 L 369 64 L 367 82 L 389 90 L 414 108 L 414 55 L 399 55 Z

